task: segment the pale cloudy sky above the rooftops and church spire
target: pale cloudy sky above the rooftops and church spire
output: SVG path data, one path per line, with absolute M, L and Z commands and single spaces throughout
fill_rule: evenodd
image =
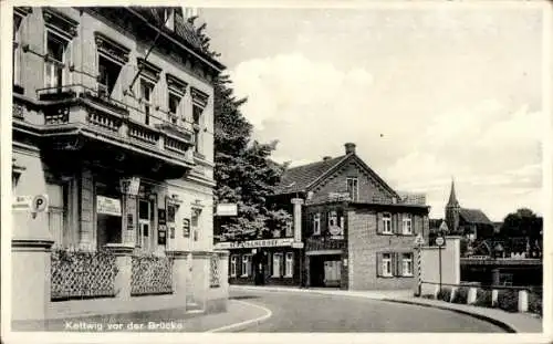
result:
M 292 166 L 344 143 L 397 191 L 501 221 L 542 213 L 542 12 L 206 8 L 254 138 Z

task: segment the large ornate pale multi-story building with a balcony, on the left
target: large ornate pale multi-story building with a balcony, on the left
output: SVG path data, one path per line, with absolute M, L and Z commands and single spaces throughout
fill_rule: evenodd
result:
M 213 80 L 223 65 L 185 15 L 181 8 L 14 8 L 14 270 L 33 259 L 18 256 L 33 244 L 128 257 L 83 277 L 77 260 L 52 253 L 43 300 L 51 310 L 75 298 L 115 298 L 119 310 L 225 299 L 209 289 L 219 285 L 210 263 Z M 32 213 L 36 195 L 49 206 Z M 15 317 L 34 316 L 23 313 Z

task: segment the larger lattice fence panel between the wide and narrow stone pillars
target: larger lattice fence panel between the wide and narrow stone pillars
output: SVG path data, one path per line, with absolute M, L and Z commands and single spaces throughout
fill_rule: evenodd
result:
M 105 251 L 54 250 L 51 300 L 115 295 L 115 256 Z

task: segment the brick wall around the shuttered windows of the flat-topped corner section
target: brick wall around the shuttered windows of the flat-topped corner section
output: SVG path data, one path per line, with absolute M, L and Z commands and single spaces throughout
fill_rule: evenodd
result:
M 388 211 L 388 210 L 387 210 Z M 389 210 L 393 212 L 393 210 Z M 403 210 L 401 212 L 405 212 Z M 347 212 L 348 229 L 348 286 L 351 290 L 411 289 L 416 283 L 415 236 L 422 231 L 428 236 L 428 216 L 415 215 L 414 234 L 378 234 L 377 211 L 352 209 Z M 378 252 L 411 252 L 414 259 L 413 277 L 378 277 Z

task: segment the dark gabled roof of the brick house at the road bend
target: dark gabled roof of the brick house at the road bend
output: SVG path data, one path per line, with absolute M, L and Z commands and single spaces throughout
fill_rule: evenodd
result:
M 397 197 L 397 199 L 400 199 L 399 195 L 355 153 L 288 169 L 282 176 L 281 184 L 276 187 L 275 194 L 285 195 L 305 192 L 309 188 L 323 180 L 325 176 L 330 175 L 348 159 L 355 159 L 362 168 L 368 171 L 376 179 L 376 181 L 384 186 L 386 190 L 388 190 L 394 197 Z

